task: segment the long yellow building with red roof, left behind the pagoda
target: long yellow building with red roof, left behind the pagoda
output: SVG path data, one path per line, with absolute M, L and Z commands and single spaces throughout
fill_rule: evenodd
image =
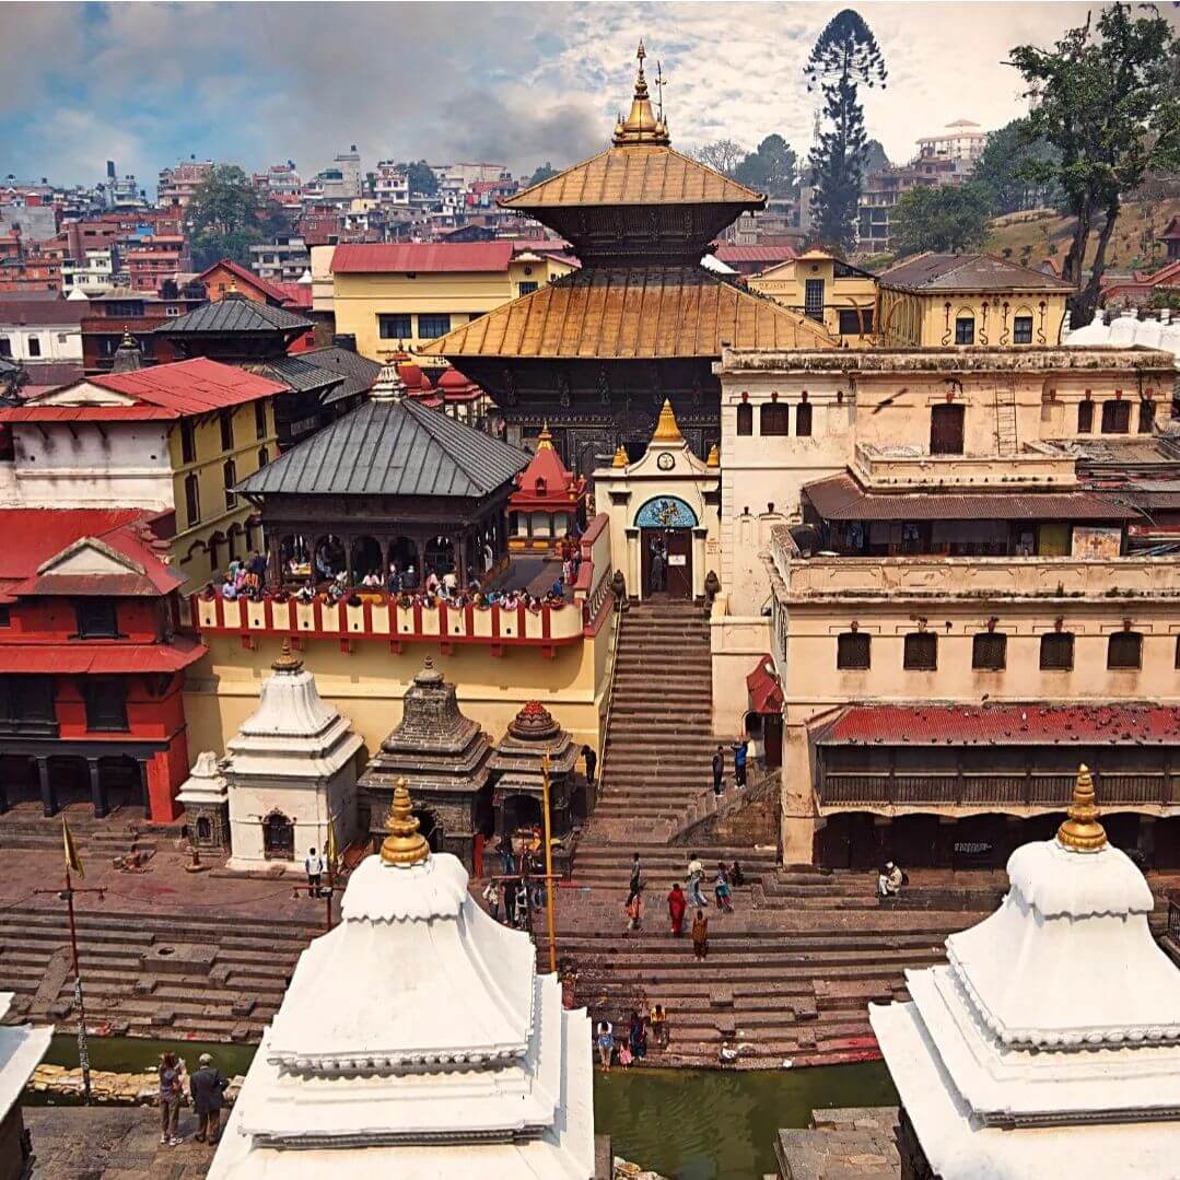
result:
M 313 255 L 313 284 L 315 264 Z M 355 336 L 356 350 L 371 360 L 413 354 L 573 269 L 551 255 L 513 253 L 506 241 L 337 245 L 332 256 L 336 333 Z

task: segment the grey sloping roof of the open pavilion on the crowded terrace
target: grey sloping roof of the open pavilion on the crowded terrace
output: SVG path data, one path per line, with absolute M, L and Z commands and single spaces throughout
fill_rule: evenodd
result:
M 366 401 L 235 489 L 250 496 L 479 498 L 530 455 L 418 402 Z

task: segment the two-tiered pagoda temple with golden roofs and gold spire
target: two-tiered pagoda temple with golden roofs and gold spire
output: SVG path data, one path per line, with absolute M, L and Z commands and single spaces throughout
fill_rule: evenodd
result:
M 643 454 L 670 399 L 697 454 L 720 441 L 713 362 L 739 348 L 837 347 L 821 323 L 710 274 L 717 234 L 766 197 L 671 148 L 638 50 L 635 96 L 611 146 L 500 202 L 572 244 L 582 268 L 422 348 L 499 406 L 520 445 L 544 422 L 576 472 L 620 445 Z

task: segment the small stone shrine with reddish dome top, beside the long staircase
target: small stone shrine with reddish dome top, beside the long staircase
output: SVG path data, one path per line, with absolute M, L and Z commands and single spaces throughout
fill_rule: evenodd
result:
M 544 825 L 544 759 L 549 756 L 549 819 L 555 837 L 564 837 L 575 809 L 586 813 L 586 800 L 576 807 L 573 766 L 578 748 L 539 701 L 527 704 L 512 719 L 507 733 L 496 745 L 490 769 L 496 834 L 511 837 L 520 828 Z

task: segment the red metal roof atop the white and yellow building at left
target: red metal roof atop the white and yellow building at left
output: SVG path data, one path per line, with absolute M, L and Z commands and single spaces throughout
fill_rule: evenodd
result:
M 105 373 L 85 378 L 113 393 L 133 398 L 135 406 L 67 406 L 26 404 L 0 409 L 0 422 L 39 421 L 144 421 L 208 414 L 228 406 L 241 406 L 258 398 L 284 393 L 287 386 L 248 373 L 234 365 L 198 356 L 171 365 L 155 365 L 132 373 Z M 61 391 L 54 396 L 60 398 Z

